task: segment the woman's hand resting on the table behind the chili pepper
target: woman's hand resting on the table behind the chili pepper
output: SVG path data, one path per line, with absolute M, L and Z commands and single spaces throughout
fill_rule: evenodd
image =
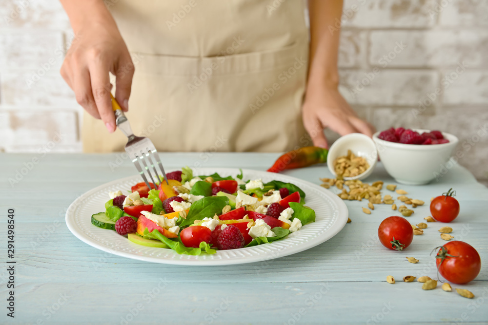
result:
M 340 135 L 358 132 L 372 136 L 374 133 L 374 127 L 356 115 L 335 85 L 308 86 L 303 120 L 313 145 L 322 148 L 328 148 L 325 128 Z

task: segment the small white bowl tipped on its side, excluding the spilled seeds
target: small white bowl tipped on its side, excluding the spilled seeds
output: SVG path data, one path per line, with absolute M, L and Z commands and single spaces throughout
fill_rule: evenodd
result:
M 369 176 L 378 161 L 378 152 L 376 151 L 376 145 L 373 140 L 369 136 L 361 133 L 351 133 L 341 136 L 330 146 L 329 153 L 327 154 L 327 167 L 329 171 L 334 176 L 337 176 L 334 170 L 334 160 L 340 156 L 347 155 L 347 150 L 350 150 L 356 156 L 365 157 L 369 168 L 362 174 L 354 177 L 344 177 L 344 179 L 364 179 Z

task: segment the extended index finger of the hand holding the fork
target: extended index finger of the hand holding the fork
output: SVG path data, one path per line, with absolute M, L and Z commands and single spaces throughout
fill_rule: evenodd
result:
M 102 118 L 108 132 L 115 131 L 115 114 L 112 110 L 110 98 L 110 78 L 108 65 L 101 60 L 92 61 L 90 66 L 90 80 L 93 98 L 97 105 L 98 113 Z

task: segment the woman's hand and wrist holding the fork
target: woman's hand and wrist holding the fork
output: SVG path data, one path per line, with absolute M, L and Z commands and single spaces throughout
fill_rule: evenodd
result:
M 115 98 L 126 112 L 134 75 L 129 51 L 103 1 L 61 2 L 75 31 L 61 76 L 75 92 L 78 103 L 93 117 L 101 118 L 112 133 L 116 126 L 109 72 L 116 76 Z

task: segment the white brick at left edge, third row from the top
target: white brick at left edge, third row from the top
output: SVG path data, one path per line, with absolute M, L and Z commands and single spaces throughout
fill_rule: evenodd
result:
M 56 71 L 8 71 L 0 75 L 1 105 L 78 108 L 73 91 Z

